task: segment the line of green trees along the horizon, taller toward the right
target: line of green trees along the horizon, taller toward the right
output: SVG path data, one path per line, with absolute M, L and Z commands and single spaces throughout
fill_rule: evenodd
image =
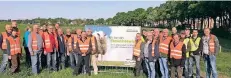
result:
M 118 12 L 112 18 L 98 19 L 66 19 L 66 18 L 35 18 L 17 20 L 19 23 L 63 25 L 124 25 L 124 26 L 161 26 L 173 27 L 190 25 L 202 28 L 203 22 L 214 20 L 214 27 L 231 28 L 231 1 L 166 1 L 160 6 L 147 9 L 137 8 L 133 11 Z M 10 21 L 9 20 L 0 20 Z M 200 24 L 197 24 L 200 23 Z

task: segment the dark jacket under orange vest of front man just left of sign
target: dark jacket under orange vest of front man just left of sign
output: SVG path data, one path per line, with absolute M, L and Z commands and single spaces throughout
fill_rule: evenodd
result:
M 82 41 L 82 39 L 80 39 L 80 41 Z M 79 54 L 79 55 L 82 55 L 82 52 L 80 51 L 80 47 L 79 47 L 78 43 L 76 43 L 76 49 L 74 49 L 73 51 L 75 53 Z M 89 48 L 88 48 L 88 50 L 86 52 L 86 55 L 91 54 L 91 52 L 92 52 L 92 44 L 91 44 L 91 40 L 90 40 L 90 42 L 89 42 Z

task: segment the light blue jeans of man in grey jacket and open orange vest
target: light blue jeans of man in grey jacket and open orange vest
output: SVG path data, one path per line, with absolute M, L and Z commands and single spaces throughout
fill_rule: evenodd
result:
M 41 53 L 35 52 L 33 56 L 31 56 L 31 63 L 32 63 L 32 73 L 38 74 L 39 73 L 39 58 Z

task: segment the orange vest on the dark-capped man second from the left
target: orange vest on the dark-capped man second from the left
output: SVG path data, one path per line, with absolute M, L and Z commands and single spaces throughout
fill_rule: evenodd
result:
M 21 53 L 20 38 L 16 39 L 8 37 L 10 43 L 10 55 L 15 55 Z

